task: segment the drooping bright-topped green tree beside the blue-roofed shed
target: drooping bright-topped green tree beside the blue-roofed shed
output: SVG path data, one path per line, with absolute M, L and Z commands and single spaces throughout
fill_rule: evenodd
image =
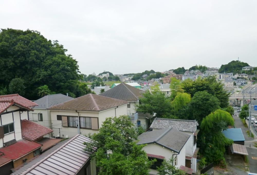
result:
M 216 110 L 206 116 L 200 125 L 200 150 L 208 163 L 225 165 L 225 146 L 231 145 L 233 141 L 227 139 L 222 130 L 228 125 L 234 125 L 234 119 L 230 113 L 223 110 Z

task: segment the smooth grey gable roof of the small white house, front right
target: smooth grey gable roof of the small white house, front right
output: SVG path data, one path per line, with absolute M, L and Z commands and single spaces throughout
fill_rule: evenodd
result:
M 139 142 L 136 144 L 158 143 L 172 151 L 179 153 L 189 137 L 190 135 L 185 134 L 175 128 L 166 128 L 145 132 L 139 135 L 137 137 Z

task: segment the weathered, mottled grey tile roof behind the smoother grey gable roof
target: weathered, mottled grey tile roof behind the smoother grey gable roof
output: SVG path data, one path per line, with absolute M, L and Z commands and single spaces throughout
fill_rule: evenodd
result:
M 195 120 L 155 118 L 150 128 L 164 129 L 173 127 L 180 131 L 195 132 L 196 126 L 198 126 L 198 122 Z

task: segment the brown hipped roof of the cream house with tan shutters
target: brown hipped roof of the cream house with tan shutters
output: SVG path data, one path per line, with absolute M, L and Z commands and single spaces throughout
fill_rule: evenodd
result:
M 106 91 L 107 92 L 107 91 Z M 48 109 L 50 110 L 68 110 L 68 111 L 102 111 L 117 106 L 127 104 L 128 102 L 114 98 L 104 97 L 95 94 L 87 94 Z

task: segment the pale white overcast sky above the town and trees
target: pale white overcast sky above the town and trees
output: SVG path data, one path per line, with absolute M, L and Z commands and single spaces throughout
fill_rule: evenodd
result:
M 81 73 L 257 66 L 257 1 L 1 1 L 0 28 L 58 40 Z

